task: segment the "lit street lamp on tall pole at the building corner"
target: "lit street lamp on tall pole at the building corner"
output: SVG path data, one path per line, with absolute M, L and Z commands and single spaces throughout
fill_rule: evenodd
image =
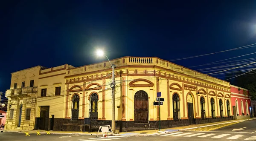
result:
M 105 56 L 107 59 L 108 57 L 106 55 L 104 55 L 104 52 L 102 50 L 97 50 L 97 55 L 98 56 Z M 115 112 L 116 112 L 116 109 L 115 109 L 115 71 L 114 69 L 116 68 L 116 65 L 112 64 L 110 62 L 110 60 L 108 59 L 108 62 L 110 63 L 111 65 L 111 68 L 112 68 L 112 83 L 111 83 L 111 88 L 112 88 L 112 122 L 111 122 L 111 127 L 112 127 L 112 130 L 115 131 L 116 129 L 116 117 L 115 117 Z

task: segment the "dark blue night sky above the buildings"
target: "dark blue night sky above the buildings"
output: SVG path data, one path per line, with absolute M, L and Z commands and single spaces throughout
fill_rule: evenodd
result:
M 256 1 L 223 1 L 1 1 L 0 91 L 10 88 L 11 72 L 105 60 L 95 57 L 97 46 L 105 46 L 110 59 L 173 60 L 256 43 Z M 173 62 L 196 66 L 253 52 L 255 47 Z

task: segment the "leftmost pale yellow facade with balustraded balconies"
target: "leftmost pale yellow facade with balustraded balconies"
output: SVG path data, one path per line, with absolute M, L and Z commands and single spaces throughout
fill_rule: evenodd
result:
M 35 126 L 35 104 L 38 77 L 43 66 L 13 72 L 8 98 L 5 129 L 32 130 Z

